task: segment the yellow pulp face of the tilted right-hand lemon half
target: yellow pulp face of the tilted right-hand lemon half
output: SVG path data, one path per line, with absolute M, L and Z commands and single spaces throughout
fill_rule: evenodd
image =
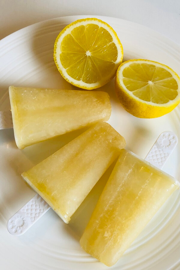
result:
M 122 74 L 126 88 L 141 100 L 165 104 L 178 95 L 176 80 L 163 67 L 133 63 L 126 67 Z

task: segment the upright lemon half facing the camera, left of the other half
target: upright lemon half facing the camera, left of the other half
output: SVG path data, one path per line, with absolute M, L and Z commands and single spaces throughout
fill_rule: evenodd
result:
M 66 26 L 54 44 L 55 64 L 67 82 L 95 89 L 110 81 L 122 63 L 123 48 L 116 32 L 96 18 Z

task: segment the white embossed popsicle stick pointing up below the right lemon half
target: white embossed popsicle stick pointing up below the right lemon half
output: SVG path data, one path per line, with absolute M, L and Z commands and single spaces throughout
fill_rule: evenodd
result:
M 172 131 L 162 132 L 147 154 L 145 160 L 162 169 L 178 143 L 178 137 Z

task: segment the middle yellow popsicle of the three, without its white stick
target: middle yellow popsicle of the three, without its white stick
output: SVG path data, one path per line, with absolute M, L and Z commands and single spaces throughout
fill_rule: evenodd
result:
M 99 122 L 22 177 L 68 223 L 124 147 L 124 138 Z

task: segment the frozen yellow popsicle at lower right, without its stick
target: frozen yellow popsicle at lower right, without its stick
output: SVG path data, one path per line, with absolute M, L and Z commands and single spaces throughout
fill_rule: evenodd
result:
M 122 149 L 81 247 L 105 265 L 114 265 L 178 187 L 172 176 Z

